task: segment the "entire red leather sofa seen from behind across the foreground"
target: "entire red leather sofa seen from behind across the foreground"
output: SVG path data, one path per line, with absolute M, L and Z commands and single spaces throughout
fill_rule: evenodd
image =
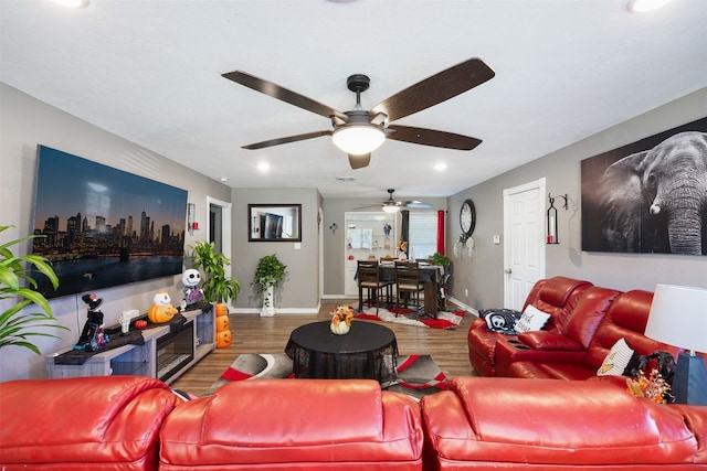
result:
M 457 377 L 416 403 L 366 379 L 256 379 L 182 402 L 114 376 L 0 398 L 3 471 L 707 469 L 707 407 L 602 382 Z

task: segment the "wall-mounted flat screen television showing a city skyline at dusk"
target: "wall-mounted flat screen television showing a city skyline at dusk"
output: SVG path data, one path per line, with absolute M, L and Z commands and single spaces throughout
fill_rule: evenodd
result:
M 96 292 L 182 271 L 187 191 L 49 147 L 38 149 L 32 253 L 59 277 L 46 298 Z

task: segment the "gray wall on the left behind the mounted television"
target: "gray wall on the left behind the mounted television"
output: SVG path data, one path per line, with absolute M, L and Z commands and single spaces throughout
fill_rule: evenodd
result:
M 0 84 L 0 224 L 15 226 L 2 233 L 3 242 L 24 237 L 32 228 L 39 143 L 184 189 L 189 192 L 189 202 L 197 205 L 199 222 L 207 221 L 207 196 L 231 199 L 230 189 L 223 184 L 4 84 Z M 203 237 L 204 231 L 194 232 L 193 236 L 187 235 L 187 244 Z M 105 323 L 117 323 L 120 312 L 127 309 L 146 312 L 159 290 L 167 290 L 178 303 L 182 297 L 179 282 L 180 277 L 176 276 L 102 289 L 98 295 L 104 299 Z M 11 304 L 8 300 L 0 301 L 0 312 Z M 38 338 L 36 343 L 44 353 L 70 346 L 78 339 L 86 320 L 85 304 L 78 296 L 60 298 L 50 304 L 71 333 L 61 331 L 64 341 Z M 28 377 L 45 377 L 43 358 L 27 349 L 2 349 L 0 381 Z

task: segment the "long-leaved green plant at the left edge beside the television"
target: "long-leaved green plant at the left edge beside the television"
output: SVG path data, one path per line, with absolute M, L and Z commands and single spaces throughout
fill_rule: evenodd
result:
M 13 226 L 0 226 L 0 232 Z M 0 245 L 0 299 L 15 299 L 17 302 L 0 315 L 0 347 L 17 345 L 30 349 L 41 355 L 40 349 L 28 340 L 29 336 L 52 336 L 56 335 L 38 330 L 44 328 L 64 329 L 66 327 L 59 323 L 52 313 L 49 301 L 40 292 L 22 287 L 22 280 L 33 288 L 36 281 L 30 277 L 25 265 L 33 265 L 36 270 L 46 276 L 54 289 L 59 287 L 59 278 L 52 269 L 49 260 L 36 255 L 14 256 L 9 247 L 24 243 L 35 236 L 29 236 L 17 240 L 10 240 Z M 32 304 L 41 308 L 43 312 L 23 313 L 22 310 Z

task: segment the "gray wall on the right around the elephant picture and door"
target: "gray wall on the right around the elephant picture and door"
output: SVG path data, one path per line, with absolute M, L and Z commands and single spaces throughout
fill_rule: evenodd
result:
M 492 243 L 493 234 L 503 235 L 503 191 L 542 176 L 547 179 L 548 192 L 569 196 L 569 211 L 558 210 L 560 244 L 547 246 L 547 276 L 563 275 L 620 290 L 653 291 L 656 283 L 707 288 L 707 257 L 582 251 L 580 220 L 583 159 L 704 118 L 706 114 L 707 88 L 703 88 L 451 196 L 452 234 L 458 236 L 454 215 L 464 199 L 474 201 L 477 213 L 476 257 L 453 259 L 452 297 L 476 309 L 503 306 L 504 240 L 502 245 Z M 468 288 L 468 297 L 464 297 L 464 288 Z

